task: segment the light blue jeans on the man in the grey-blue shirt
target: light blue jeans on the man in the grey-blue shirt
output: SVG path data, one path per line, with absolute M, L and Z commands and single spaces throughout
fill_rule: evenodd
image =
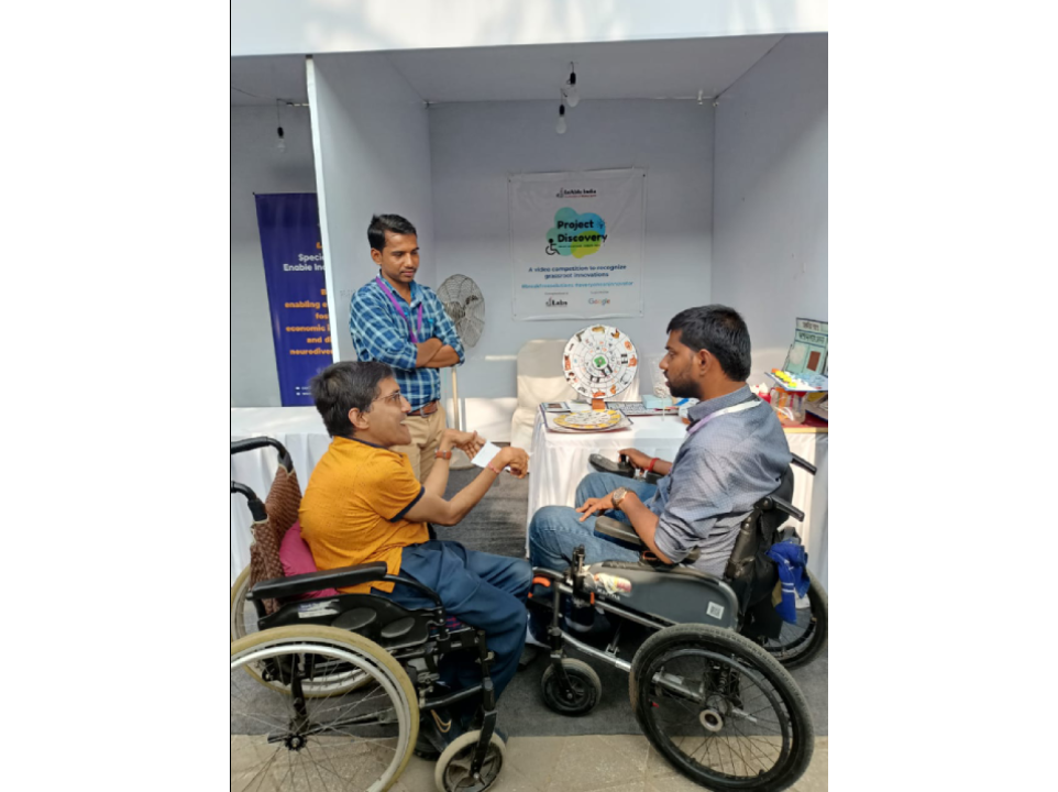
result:
M 618 487 L 635 492 L 643 502 L 652 498 L 658 491 L 654 484 L 625 479 L 613 473 L 593 473 L 577 487 L 576 505 L 582 506 L 588 498 L 606 497 Z M 625 524 L 629 522 L 622 512 L 605 512 L 603 515 Z M 595 535 L 595 515 L 583 522 L 581 517 L 583 515 L 569 506 L 547 506 L 533 515 L 532 522 L 529 525 L 529 558 L 533 566 L 564 570 L 573 559 L 573 551 L 582 544 L 585 551 L 585 563 L 588 564 L 600 561 L 639 560 L 639 551 Z

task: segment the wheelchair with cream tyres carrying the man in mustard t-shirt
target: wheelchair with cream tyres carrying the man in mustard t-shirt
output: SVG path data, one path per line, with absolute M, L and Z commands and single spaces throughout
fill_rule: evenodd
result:
M 389 575 L 384 563 L 284 576 L 279 546 L 301 501 L 290 455 L 268 438 L 233 442 L 231 452 L 268 447 L 279 468 L 265 502 L 231 483 L 254 521 L 251 564 L 231 591 L 232 792 L 385 792 L 415 751 L 420 715 L 445 729 L 438 711 L 474 702 L 475 727 L 441 755 L 434 783 L 439 792 L 492 789 L 506 748 L 485 634 L 450 618 L 436 592 Z M 374 582 L 411 586 L 433 607 L 408 610 L 335 591 Z M 439 663 L 458 653 L 480 663 L 482 682 L 449 692 Z

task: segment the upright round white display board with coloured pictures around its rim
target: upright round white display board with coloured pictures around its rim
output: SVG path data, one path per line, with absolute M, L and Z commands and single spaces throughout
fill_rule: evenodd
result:
M 570 339 L 562 371 L 570 386 L 584 398 L 613 399 L 636 378 L 639 354 L 617 328 L 588 327 Z

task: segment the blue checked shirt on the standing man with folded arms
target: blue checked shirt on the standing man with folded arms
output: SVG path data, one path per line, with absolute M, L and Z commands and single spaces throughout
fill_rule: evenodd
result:
M 349 308 L 349 332 L 356 346 L 356 356 L 362 361 L 378 361 L 393 366 L 400 393 L 411 403 L 411 409 L 418 410 L 441 398 L 441 373 L 438 369 L 415 367 L 418 348 L 411 343 L 411 324 L 415 324 L 419 343 L 438 338 L 455 350 L 460 363 L 465 361 L 463 344 L 460 343 L 455 326 L 444 312 L 444 306 L 431 289 L 412 282 L 410 306 L 396 289 L 393 292 L 407 319 L 397 312 L 389 296 L 372 280 L 353 295 Z M 422 332 L 419 332 L 420 305 Z

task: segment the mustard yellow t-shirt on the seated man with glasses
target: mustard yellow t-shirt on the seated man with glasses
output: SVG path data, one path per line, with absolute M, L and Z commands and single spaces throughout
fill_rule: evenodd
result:
M 301 537 L 320 570 L 384 561 L 400 572 L 403 549 L 429 541 L 425 522 L 404 518 L 423 495 L 407 455 L 334 438 L 316 465 L 301 498 Z M 393 591 L 393 583 L 343 588 L 367 594 Z

